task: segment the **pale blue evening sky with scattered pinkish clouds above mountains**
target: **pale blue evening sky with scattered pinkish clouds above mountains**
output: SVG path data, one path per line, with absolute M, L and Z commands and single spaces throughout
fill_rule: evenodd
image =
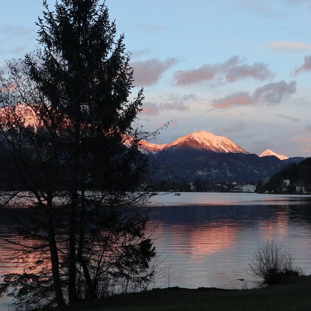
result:
M 48 0 L 52 6 L 54 0 Z M 106 0 L 156 143 L 194 131 L 311 156 L 311 0 Z M 1 1 L 0 70 L 35 49 L 41 0 Z

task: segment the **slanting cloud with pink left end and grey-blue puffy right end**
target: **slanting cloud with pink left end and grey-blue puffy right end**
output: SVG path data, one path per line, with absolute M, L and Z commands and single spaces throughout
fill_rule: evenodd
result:
M 213 99 L 212 105 L 217 109 L 225 109 L 251 104 L 279 104 L 295 92 L 296 81 L 286 83 L 281 80 L 256 88 L 252 95 L 249 92 L 237 92 L 223 98 Z

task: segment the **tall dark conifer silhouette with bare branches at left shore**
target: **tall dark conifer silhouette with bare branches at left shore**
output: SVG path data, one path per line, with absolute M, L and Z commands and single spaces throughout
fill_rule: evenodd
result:
M 143 95 L 129 100 L 124 36 L 98 0 L 43 4 L 37 52 L 0 76 L 1 203 L 23 237 L 2 246 L 25 263 L 0 292 L 35 307 L 141 284 L 155 256 L 142 209 L 152 194 L 135 191 L 148 177 L 138 147 L 154 133 L 133 125 Z

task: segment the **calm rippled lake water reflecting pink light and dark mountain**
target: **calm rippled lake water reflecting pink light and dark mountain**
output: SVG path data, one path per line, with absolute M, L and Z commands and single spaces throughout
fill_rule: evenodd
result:
M 311 196 L 181 192 L 152 201 L 149 227 L 163 260 L 156 286 L 258 286 L 245 272 L 249 252 L 271 239 L 289 246 L 296 265 L 311 274 Z M 5 299 L 1 311 L 8 310 Z

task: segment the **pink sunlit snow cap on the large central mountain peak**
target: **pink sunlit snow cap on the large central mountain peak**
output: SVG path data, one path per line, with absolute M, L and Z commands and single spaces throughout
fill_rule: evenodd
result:
M 212 152 L 219 152 L 219 153 L 243 153 L 248 154 L 247 151 L 242 149 L 240 146 L 235 144 L 230 139 L 223 137 L 223 136 L 216 136 L 212 133 L 206 131 L 196 131 L 190 133 L 186 136 L 177 138 L 171 143 L 157 145 L 154 143 L 149 143 L 144 141 L 142 143 L 142 148 L 149 152 L 159 152 L 164 148 L 178 148 L 178 147 L 190 147 L 195 149 L 202 149 Z

